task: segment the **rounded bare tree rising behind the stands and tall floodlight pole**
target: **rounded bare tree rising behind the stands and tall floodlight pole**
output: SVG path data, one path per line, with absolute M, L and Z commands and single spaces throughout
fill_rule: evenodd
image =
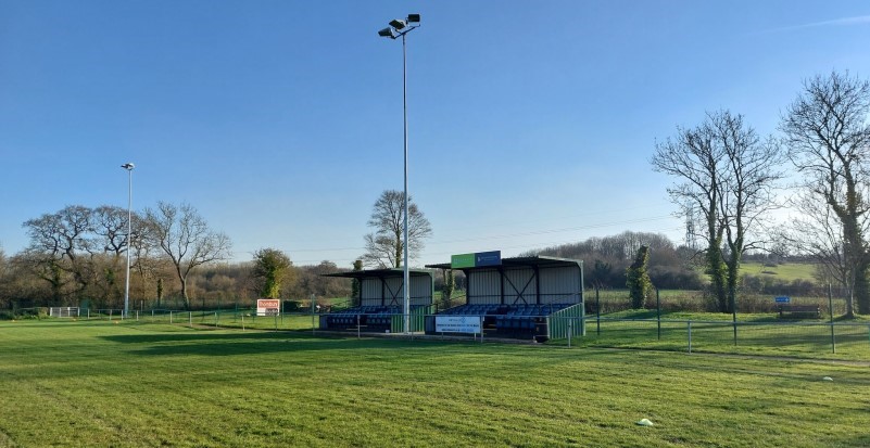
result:
M 368 219 L 368 227 L 374 228 L 375 232 L 365 235 L 366 253 L 362 257 L 367 266 L 402 267 L 404 200 L 401 191 L 387 190 L 375 202 Z M 408 258 L 416 259 L 425 246 L 425 240 L 432 235 L 432 227 L 411 197 L 407 207 Z

